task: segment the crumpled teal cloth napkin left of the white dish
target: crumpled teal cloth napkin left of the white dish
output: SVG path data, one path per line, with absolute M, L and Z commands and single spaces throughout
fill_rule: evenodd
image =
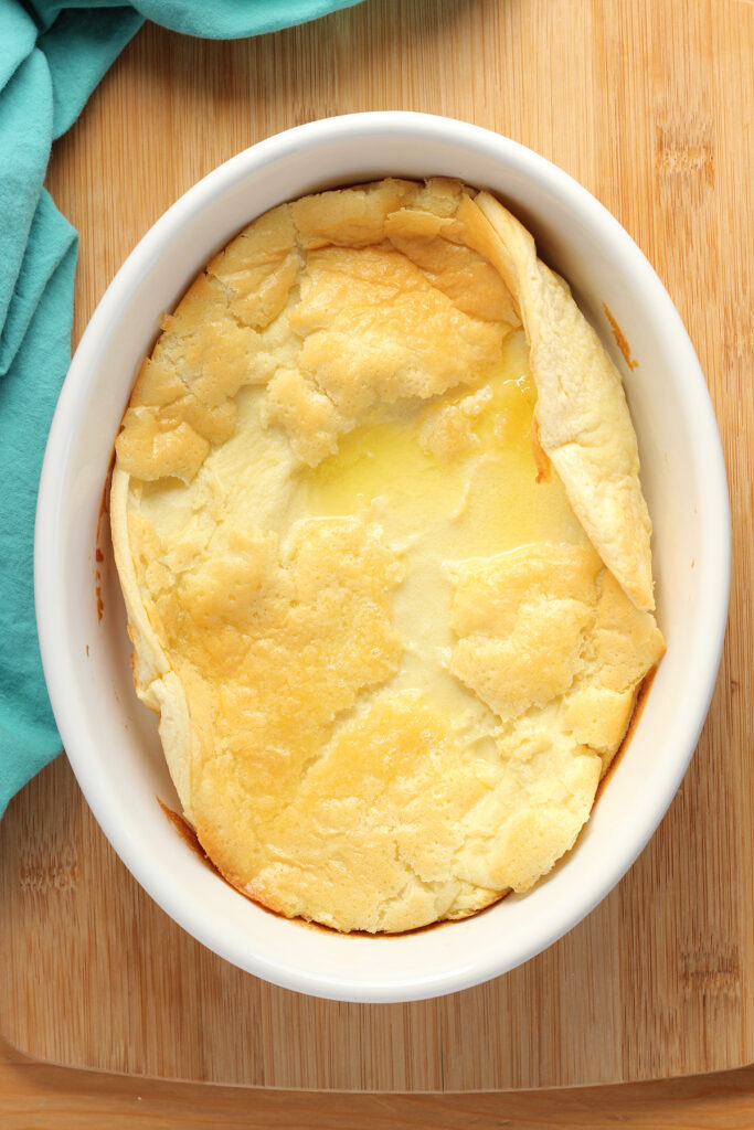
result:
M 242 38 L 359 0 L 0 0 L 0 816 L 60 751 L 36 637 L 34 511 L 70 360 L 77 233 L 43 188 L 52 141 L 145 18 Z

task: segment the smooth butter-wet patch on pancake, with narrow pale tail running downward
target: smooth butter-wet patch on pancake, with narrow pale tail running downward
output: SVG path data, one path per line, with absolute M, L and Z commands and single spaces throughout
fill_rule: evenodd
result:
M 494 757 L 499 720 L 448 670 L 448 566 L 530 542 L 582 542 L 586 534 L 555 471 L 538 481 L 536 390 L 522 331 L 509 337 L 484 389 L 456 389 L 355 428 L 335 454 L 300 472 L 296 516 L 352 515 L 381 528 L 406 566 L 392 608 L 406 651 L 385 690 L 422 689 L 463 729 L 475 756 L 486 749 Z

